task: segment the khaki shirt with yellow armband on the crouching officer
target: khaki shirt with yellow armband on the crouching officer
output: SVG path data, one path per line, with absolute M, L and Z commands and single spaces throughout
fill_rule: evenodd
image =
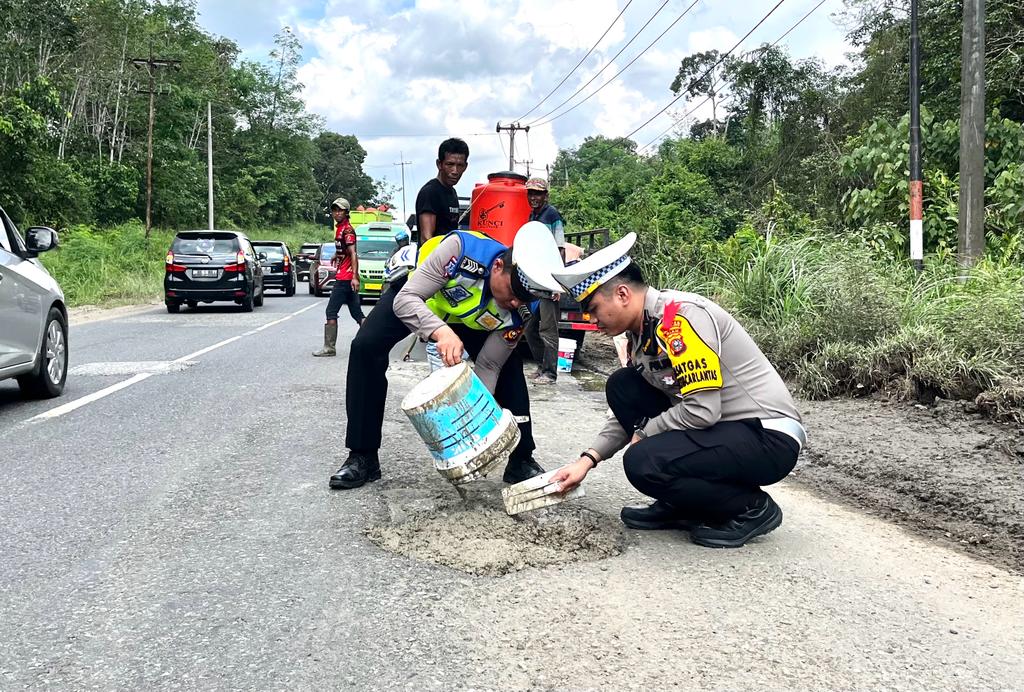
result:
M 650 419 L 641 436 L 749 418 L 800 420 L 785 383 L 746 330 L 703 296 L 648 288 L 641 333 L 628 335 L 627 366 L 676 401 Z M 591 446 L 608 459 L 629 441 L 609 417 Z

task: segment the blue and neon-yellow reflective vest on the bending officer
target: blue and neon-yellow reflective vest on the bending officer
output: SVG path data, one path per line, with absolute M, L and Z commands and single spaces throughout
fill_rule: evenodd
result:
M 473 330 L 496 332 L 521 328 L 525 315 L 498 307 L 490 295 L 490 266 L 507 249 L 498 241 L 472 230 L 454 230 L 462 241 L 462 254 L 444 265 L 447 284 L 427 299 L 427 307 L 447 323 L 461 323 Z M 449 233 L 451 234 L 451 233 Z M 420 248 L 417 266 L 430 256 L 447 235 L 435 235 Z

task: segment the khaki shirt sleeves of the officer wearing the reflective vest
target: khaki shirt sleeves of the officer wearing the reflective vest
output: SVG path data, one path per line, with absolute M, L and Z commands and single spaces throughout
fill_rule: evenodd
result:
M 429 341 L 431 334 L 445 326 L 443 319 L 430 311 L 426 300 L 449 283 L 450 277 L 444 267 L 449 258 L 460 255 L 462 255 L 462 241 L 457 234 L 452 233 L 441 241 L 427 259 L 423 260 L 423 264 L 416 268 L 412 277 L 394 297 L 395 316 L 424 341 Z M 489 273 L 490 267 L 486 269 Z M 519 343 L 522 332 L 521 327 L 502 328 L 492 332 L 476 355 L 476 366 L 473 372 L 492 394 L 498 385 L 498 375 Z

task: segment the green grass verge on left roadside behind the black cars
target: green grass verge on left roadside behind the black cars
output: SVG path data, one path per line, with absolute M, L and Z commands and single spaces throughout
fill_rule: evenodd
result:
M 61 231 L 57 250 L 41 257 L 72 307 L 158 300 L 163 296 L 164 259 L 174 232 L 155 228 L 146 240 L 137 221 L 103 229 L 73 226 Z M 293 251 L 303 243 L 333 237 L 327 226 L 312 224 L 256 229 L 247 234 L 253 241 L 283 241 Z

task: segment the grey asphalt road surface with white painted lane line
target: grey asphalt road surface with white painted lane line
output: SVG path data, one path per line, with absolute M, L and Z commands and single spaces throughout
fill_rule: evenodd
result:
M 311 357 L 325 305 L 73 322 L 62 397 L 0 382 L 0 689 L 1024 689 L 1024 579 L 793 485 L 736 551 L 624 530 L 616 461 L 541 519 L 460 514 L 398 408 L 422 361 L 392 371 L 384 479 L 329 490 L 354 325 Z M 534 394 L 554 468 L 604 406 Z M 580 516 L 616 555 L 544 552 Z

